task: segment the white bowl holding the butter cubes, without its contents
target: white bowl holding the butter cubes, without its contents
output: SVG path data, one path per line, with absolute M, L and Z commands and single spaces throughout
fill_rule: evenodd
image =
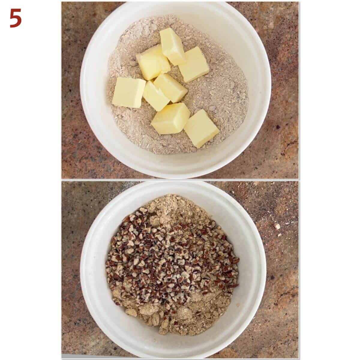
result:
M 175 155 L 158 155 L 141 149 L 118 129 L 111 105 L 106 100 L 108 59 L 120 35 L 141 18 L 165 14 L 175 14 L 208 33 L 233 56 L 247 78 L 249 109 L 243 124 L 211 149 Z M 260 37 L 246 18 L 229 4 L 127 3 L 112 12 L 91 38 L 82 62 L 80 89 L 87 121 L 109 153 L 144 174 L 186 179 L 217 170 L 248 147 L 260 130 L 269 107 L 271 74 Z

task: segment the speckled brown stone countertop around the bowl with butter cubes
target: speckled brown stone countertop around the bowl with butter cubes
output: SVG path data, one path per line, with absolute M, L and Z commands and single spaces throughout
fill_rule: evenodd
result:
M 91 131 L 80 100 L 82 58 L 91 36 L 122 3 L 62 3 L 62 177 L 143 179 L 105 150 Z M 206 179 L 298 178 L 298 3 L 229 3 L 264 43 L 272 76 L 269 111 L 249 147 Z

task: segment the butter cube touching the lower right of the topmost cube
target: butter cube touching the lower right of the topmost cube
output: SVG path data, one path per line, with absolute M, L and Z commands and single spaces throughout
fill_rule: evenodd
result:
M 185 82 L 195 80 L 209 72 L 209 66 L 199 46 L 186 51 L 185 57 L 186 63 L 179 65 L 179 70 Z

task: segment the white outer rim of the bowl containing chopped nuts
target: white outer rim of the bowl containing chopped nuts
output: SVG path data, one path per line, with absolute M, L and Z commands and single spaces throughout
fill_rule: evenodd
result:
M 98 325 L 98 327 L 100 328 L 100 330 L 102 330 L 102 332 L 104 332 L 104 334 L 111 339 L 114 343 L 116 343 L 118 346 L 120 346 L 121 348 L 123 348 L 126 351 L 129 351 L 131 354 L 134 354 L 136 356 L 139 357 L 143 357 L 143 358 L 151 358 L 154 359 L 153 355 L 149 355 L 146 352 L 143 351 L 138 351 L 138 350 L 134 350 L 131 348 L 131 346 L 128 346 L 126 343 L 124 343 L 121 339 L 119 338 L 115 338 L 114 336 L 112 336 L 111 331 L 104 325 L 101 316 L 98 315 L 98 311 L 95 309 L 95 307 L 93 306 L 93 304 L 91 303 L 91 299 L 87 293 L 87 288 L 86 288 L 86 272 L 85 272 L 85 262 L 86 262 L 86 256 L 87 256 L 87 251 L 90 247 L 91 244 L 91 238 L 94 235 L 95 229 L 97 228 L 97 226 L 100 224 L 100 222 L 103 220 L 104 217 L 107 216 L 107 214 L 109 212 L 111 212 L 113 210 L 113 208 L 117 205 L 118 202 L 121 202 L 121 200 L 126 196 L 129 196 L 131 194 L 136 194 L 138 193 L 138 191 L 141 188 L 145 188 L 145 187 L 150 187 L 152 186 L 152 184 L 157 184 L 157 183 L 171 183 L 171 184 L 176 184 L 176 183 L 191 183 L 192 186 L 201 186 L 203 188 L 207 188 L 210 191 L 216 192 L 217 194 L 221 195 L 222 197 L 224 197 L 227 201 L 229 201 L 231 204 L 233 204 L 236 208 L 238 208 L 238 210 L 242 213 L 242 215 L 244 216 L 244 218 L 247 220 L 253 234 L 255 235 L 256 238 L 256 244 L 257 244 L 257 248 L 259 251 L 259 256 L 260 256 L 260 265 L 261 265 L 261 274 L 260 274 L 260 281 L 259 281 L 259 290 L 258 293 L 256 295 L 256 300 L 254 302 L 254 305 L 251 309 L 251 311 L 249 312 L 248 317 L 246 318 L 246 320 L 244 321 L 244 323 L 242 324 L 242 326 L 240 326 L 237 331 L 235 331 L 230 337 L 228 337 L 224 342 L 221 343 L 221 345 L 216 346 L 214 348 L 212 348 L 211 350 L 208 350 L 206 352 L 203 352 L 201 354 L 195 354 L 194 356 L 191 356 L 190 358 L 205 358 L 208 356 L 211 356 L 213 354 L 215 354 L 218 351 L 221 351 L 223 348 L 225 348 L 226 346 L 228 346 L 231 342 L 233 342 L 238 336 L 240 336 L 240 334 L 247 328 L 247 326 L 249 325 L 249 323 L 252 321 L 253 317 L 255 316 L 261 300 L 262 300 L 262 296 L 264 294 L 264 290 L 265 290 L 265 283 L 266 283 L 266 256 L 265 256 L 265 249 L 264 249 L 264 245 L 262 243 L 260 234 L 257 230 L 257 227 L 254 223 L 254 221 L 251 219 L 250 215 L 247 213 L 247 211 L 240 205 L 240 203 L 238 203 L 234 198 L 232 198 L 229 194 L 227 194 L 226 192 L 224 192 L 223 190 L 217 188 L 215 185 L 211 185 L 208 183 L 205 183 L 204 181 L 191 181 L 191 180 L 183 180 L 183 181 L 173 181 L 173 180 L 150 180 L 150 181 L 144 181 L 140 184 L 136 184 L 134 186 L 131 186 L 131 188 L 124 190 L 123 192 L 121 192 L 120 194 L 118 194 L 114 199 L 112 199 L 98 214 L 98 216 L 96 216 L 93 224 L 91 224 L 90 229 L 86 235 L 83 247 L 82 247 L 82 251 L 81 251 L 81 259 L 80 259 L 80 283 L 81 283 L 81 290 L 82 290 L 82 294 L 87 306 L 87 309 L 90 312 L 90 315 L 92 316 L 92 318 L 94 319 L 96 325 Z

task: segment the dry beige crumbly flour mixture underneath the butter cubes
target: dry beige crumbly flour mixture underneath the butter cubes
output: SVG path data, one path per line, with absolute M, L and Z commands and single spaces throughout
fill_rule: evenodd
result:
M 121 35 L 116 49 L 109 58 L 109 103 L 113 96 L 116 77 L 142 78 L 135 54 L 160 44 L 159 31 L 167 27 L 171 27 L 180 36 L 185 51 L 199 46 L 209 64 L 210 72 L 207 75 L 187 84 L 183 81 L 179 67 L 172 66 L 168 72 L 188 89 L 181 101 L 191 111 L 190 116 L 204 109 L 219 128 L 220 133 L 201 147 L 209 148 L 221 143 L 244 121 L 248 109 L 247 81 L 240 67 L 222 46 L 174 15 L 141 19 L 131 24 Z M 184 131 L 179 134 L 159 135 L 150 125 L 156 111 L 144 99 L 139 109 L 112 105 L 112 112 L 121 131 L 143 149 L 156 154 L 198 151 Z

